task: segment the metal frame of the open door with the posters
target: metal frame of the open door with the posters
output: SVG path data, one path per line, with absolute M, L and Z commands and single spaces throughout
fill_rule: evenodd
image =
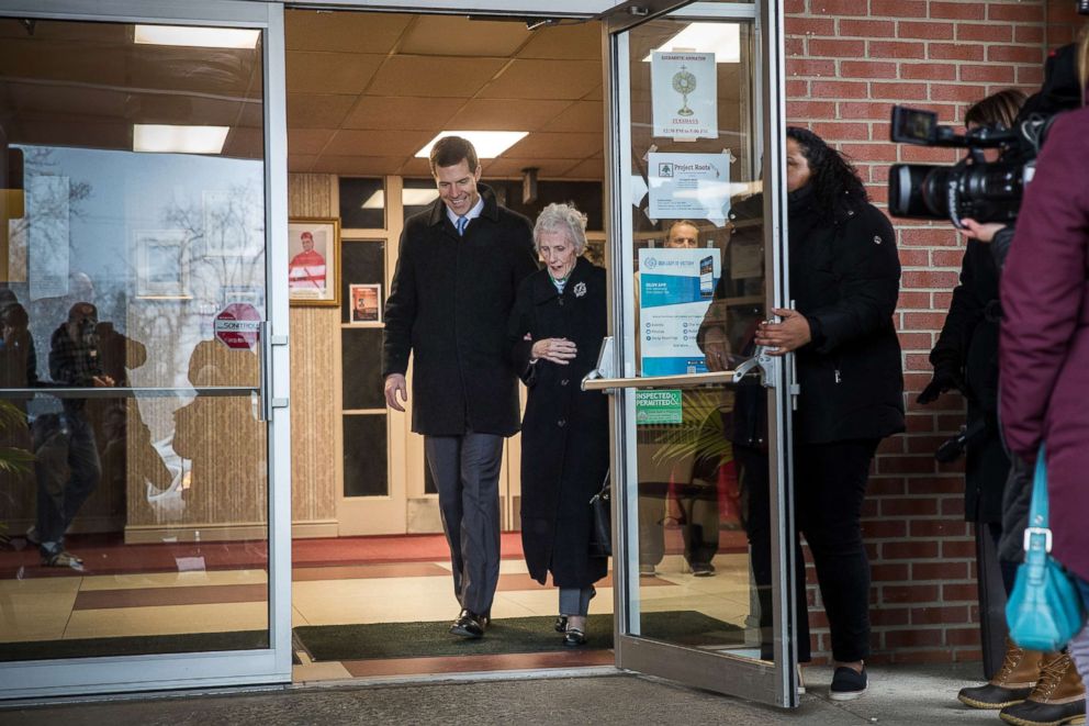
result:
M 761 92 L 759 94 L 761 123 L 754 132 L 763 148 L 764 189 L 764 244 L 770 250 L 766 258 L 766 309 L 788 306 L 787 249 L 786 249 L 786 186 L 785 179 L 785 51 L 783 9 L 779 3 L 759 0 L 755 4 L 727 2 L 642 2 L 639 8 L 619 8 L 607 19 L 603 33 L 605 59 L 606 103 L 606 233 L 609 245 L 606 260 L 609 269 L 609 325 L 617 345 L 614 350 L 613 370 L 620 376 L 635 376 L 635 340 L 631 336 L 635 320 L 632 310 L 632 263 L 622 254 L 625 238 L 631 238 L 631 174 L 630 118 L 627 37 L 625 33 L 643 22 L 670 13 L 671 18 L 686 20 L 725 20 L 754 18 L 757 53 L 756 68 Z M 619 303 L 619 304 L 617 304 Z M 622 335 L 621 335 L 622 333 Z M 790 456 L 790 421 L 793 380 L 788 380 L 793 356 L 773 364 L 768 395 L 770 474 L 775 484 L 771 488 L 771 507 L 776 526 L 772 528 L 772 582 L 773 601 L 777 617 L 774 618 L 774 663 L 731 656 L 695 651 L 680 646 L 647 640 L 630 635 L 631 623 L 628 601 L 631 593 L 629 572 L 638 571 L 638 530 L 628 527 L 624 517 L 622 496 L 614 496 L 614 567 L 615 583 L 615 643 L 617 667 L 626 670 L 653 673 L 695 688 L 704 688 L 753 701 L 784 707 L 798 705 L 797 647 L 794 633 L 796 617 L 806 614 L 794 612 L 792 583 L 794 572 L 794 538 L 792 490 L 793 457 Z M 619 390 L 614 395 L 610 411 L 613 431 L 614 492 L 626 492 L 631 472 L 636 469 L 635 393 Z M 800 583 L 799 587 L 805 587 Z

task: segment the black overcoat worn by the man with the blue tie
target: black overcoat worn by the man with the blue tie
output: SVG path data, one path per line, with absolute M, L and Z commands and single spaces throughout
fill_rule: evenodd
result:
M 413 354 L 412 429 L 427 436 L 518 431 L 506 326 L 537 255 L 529 220 L 479 189 L 484 209 L 463 237 L 441 200 L 405 222 L 385 301 L 382 377 L 404 375 Z

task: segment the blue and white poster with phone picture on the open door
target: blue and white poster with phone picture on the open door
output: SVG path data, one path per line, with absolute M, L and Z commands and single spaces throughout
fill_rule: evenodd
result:
M 717 249 L 639 250 L 643 376 L 707 372 L 696 334 L 721 273 Z

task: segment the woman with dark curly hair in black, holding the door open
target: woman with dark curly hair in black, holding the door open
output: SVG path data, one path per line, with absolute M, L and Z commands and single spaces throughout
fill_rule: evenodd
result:
M 829 695 L 846 701 L 867 688 L 869 562 L 862 506 L 869 465 L 880 439 L 905 425 L 892 323 L 900 260 L 892 225 L 868 203 L 865 187 L 839 152 L 810 131 L 789 127 L 786 157 L 796 306 L 773 309 L 779 321 L 761 323 L 755 343 L 770 355 L 797 354 L 794 510 L 831 630 L 835 671 Z M 804 562 L 800 548 L 796 557 Z M 804 593 L 804 573 L 797 587 Z M 808 659 L 805 613 L 802 606 L 799 661 Z

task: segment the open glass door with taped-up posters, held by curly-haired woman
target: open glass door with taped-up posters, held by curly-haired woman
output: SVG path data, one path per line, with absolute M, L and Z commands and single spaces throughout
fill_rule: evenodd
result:
M 795 706 L 792 361 L 753 344 L 787 306 L 782 9 L 661 10 L 607 30 L 614 335 L 583 383 L 615 403 L 617 664 Z

